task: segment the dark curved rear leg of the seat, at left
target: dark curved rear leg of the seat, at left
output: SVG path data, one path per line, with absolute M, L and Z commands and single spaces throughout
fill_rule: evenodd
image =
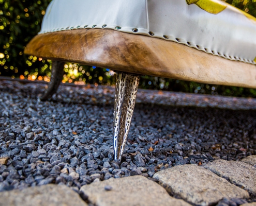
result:
M 40 98 L 42 101 L 50 99 L 57 91 L 64 75 L 64 64 L 65 62 L 52 61 L 51 81 L 48 84 L 46 93 L 44 93 L 44 95 Z

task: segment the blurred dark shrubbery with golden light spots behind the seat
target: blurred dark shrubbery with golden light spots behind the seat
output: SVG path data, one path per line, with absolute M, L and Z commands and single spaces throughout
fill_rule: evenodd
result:
M 25 56 L 26 44 L 40 31 L 51 0 L 0 0 L 0 75 L 12 78 L 50 81 L 51 61 Z M 256 0 L 227 0 L 233 6 L 256 17 Z M 77 84 L 115 83 L 108 68 L 96 68 L 67 62 L 63 82 Z M 256 97 L 255 89 L 210 85 L 167 78 L 142 76 L 140 88 L 226 96 Z

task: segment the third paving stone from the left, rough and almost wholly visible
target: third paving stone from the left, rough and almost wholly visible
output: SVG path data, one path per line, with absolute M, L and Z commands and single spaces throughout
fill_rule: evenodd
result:
M 156 173 L 169 193 L 197 205 L 211 205 L 222 198 L 249 198 L 248 192 L 197 165 L 178 165 Z

